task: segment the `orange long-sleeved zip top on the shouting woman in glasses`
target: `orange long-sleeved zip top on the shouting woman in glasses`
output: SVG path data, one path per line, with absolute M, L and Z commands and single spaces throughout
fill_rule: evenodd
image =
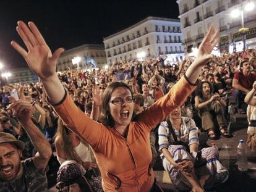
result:
M 155 178 L 150 167 L 150 130 L 181 106 L 194 89 L 182 77 L 168 94 L 130 122 L 127 138 L 84 115 L 67 94 L 53 107 L 65 125 L 92 146 L 104 191 L 144 192 L 150 190 Z

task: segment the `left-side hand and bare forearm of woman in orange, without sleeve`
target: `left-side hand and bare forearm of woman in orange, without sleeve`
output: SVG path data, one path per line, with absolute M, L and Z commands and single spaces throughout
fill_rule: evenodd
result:
M 59 48 L 52 54 L 33 22 L 29 22 L 27 26 L 19 21 L 16 30 L 28 51 L 15 41 L 11 42 L 12 47 L 24 57 L 30 69 L 40 78 L 49 100 L 58 103 L 64 97 L 65 91 L 56 73 L 56 65 L 64 49 Z

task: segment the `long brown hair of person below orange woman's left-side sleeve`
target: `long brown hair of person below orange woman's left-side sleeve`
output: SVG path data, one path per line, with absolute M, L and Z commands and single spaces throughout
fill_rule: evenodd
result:
M 82 162 L 82 159 L 78 156 L 77 152 L 75 152 L 74 147 L 72 146 L 72 141 L 69 138 L 69 133 L 70 130 L 63 125 L 62 120 L 59 118 L 54 138 L 61 144 L 61 148 L 65 152 L 66 160 L 74 160 L 80 163 Z

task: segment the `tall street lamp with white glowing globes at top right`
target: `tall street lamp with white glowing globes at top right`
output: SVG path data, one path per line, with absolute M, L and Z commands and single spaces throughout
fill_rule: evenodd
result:
M 253 10 L 254 9 L 254 3 L 253 2 L 249 2 L 245 5 L 244 9 L 246 11 L 250 11 L 250 10 Z M 242 28 L 239 29 L 238 31 L 241 33 L 242 35 L 242 42 L 244 44 L 244 50 L 245 50 L 245 35 L 247 33 L 247 31 L 249 31 L 249 28 L 247 27 L 244 27 L 244 9 L 242 7 L 242 3 L 241 3 L 241 10 L 239 9 L 234 9 L 231 14 L 232 14 L 232 17 L 239 17 L 239 15 L 241 15 L 241 22 L 242 22 Z

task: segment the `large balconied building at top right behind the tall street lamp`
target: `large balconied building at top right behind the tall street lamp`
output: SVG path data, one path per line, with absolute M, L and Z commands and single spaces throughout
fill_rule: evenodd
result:
M 220 28 L 220 51 L 233 51 L 233 42 L 237 47 L 242 47 L 239 32 L 242 21 L 244 27 L 249 28 L 245 35 L 246 46 L 255 48 L 256 12 L 255 9 L 245 9 L 249 2 L 255 4 L 255 0 L 177 0 L 186 54 L 191 54 L 192 48 L 198 48 L 211 23 Z

